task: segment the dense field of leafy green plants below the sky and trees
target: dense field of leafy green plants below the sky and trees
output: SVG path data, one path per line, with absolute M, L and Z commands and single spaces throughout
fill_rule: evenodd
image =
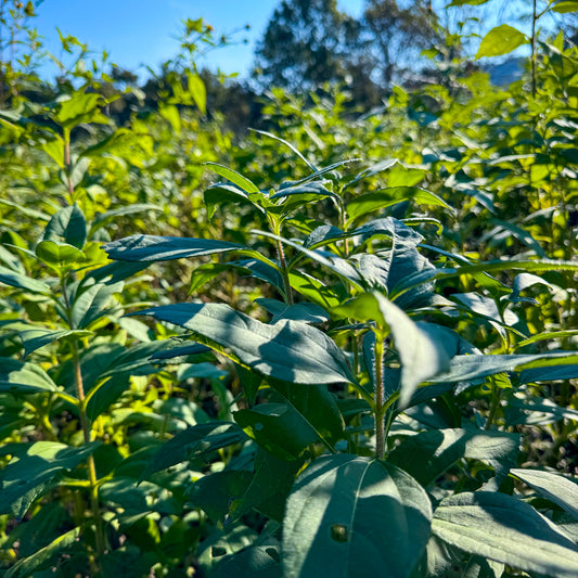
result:
M 1 3 L 0 576 L 578 576 L 578 2 L 242 129 Z

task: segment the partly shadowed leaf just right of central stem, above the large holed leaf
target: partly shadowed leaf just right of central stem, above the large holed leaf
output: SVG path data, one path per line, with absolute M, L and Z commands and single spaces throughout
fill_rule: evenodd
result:
M 481 429 L 428 429 L 404 438 L 387 460 L 427 486 L 462 458 L 490 463 L 498 472 L 515 465 L 521 436 Z

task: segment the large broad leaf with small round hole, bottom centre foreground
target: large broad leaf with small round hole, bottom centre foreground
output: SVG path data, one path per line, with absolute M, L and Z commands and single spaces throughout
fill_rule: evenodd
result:
M 398 467 L 348 454 L 297 478 L 283 522 L 285 578 L 409 578 L 429 538 L 429 499 Z

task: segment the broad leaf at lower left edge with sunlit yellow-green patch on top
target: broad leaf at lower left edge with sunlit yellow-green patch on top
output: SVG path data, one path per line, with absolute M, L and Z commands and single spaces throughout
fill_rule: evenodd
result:
M 84 462 L 101 441 L 73 448 L 56 441 L 36 441 L 18 453 L 0 472 L 0 513 L 22 517 L 65 470 Z

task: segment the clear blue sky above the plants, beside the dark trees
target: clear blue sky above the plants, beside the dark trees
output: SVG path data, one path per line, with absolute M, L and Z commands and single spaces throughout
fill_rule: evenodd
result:
M 76 36 L 95 52 L 106 50 L 111 62 L 145 75 L 142 64 L 156 68 L 178 52 L 175 37 L 183 18 L 203 20 L 217 35 L 243 28 L 235 37 L 248 43 L 215 50 L 202 64 L 224 73 L 246 74 L 257 40 L 280 0 L 44 0 L 34 25 L 48 50 L 60 55 L 56 27 Z M 361 13 L 363 0 L 338 0 L 341 10 Z

